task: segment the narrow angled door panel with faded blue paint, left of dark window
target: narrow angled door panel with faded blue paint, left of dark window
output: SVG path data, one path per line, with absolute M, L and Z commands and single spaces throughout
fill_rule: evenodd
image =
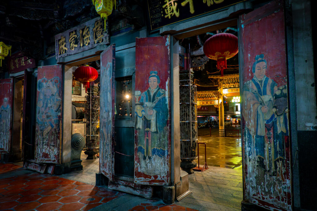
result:
M 115 44 L 100 54 L 100 172 L 114 179 Z

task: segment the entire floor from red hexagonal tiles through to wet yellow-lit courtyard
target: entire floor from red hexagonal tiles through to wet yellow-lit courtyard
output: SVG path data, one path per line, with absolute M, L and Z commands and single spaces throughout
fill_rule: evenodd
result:
M 150 200 L 95 186 L 99 158 L 87 160 L 82 152 L 83 170 L 59 176 L 25 170 L 22 162 L 3 164 L 0 160 L 0 210 L 241 210 L 241 139 L 220 138 L 218 128 L 199 129 L 198 134 L 198 142 L 207 146 L 209 169 L 189 175 L 192 193 L 179 202 L 168 205 L 161 199 Z M 202 167 L 204 147 L 199 149 Z

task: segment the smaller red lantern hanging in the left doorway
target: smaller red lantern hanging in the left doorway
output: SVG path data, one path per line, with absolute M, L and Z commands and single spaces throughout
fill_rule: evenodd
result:
M 89 83 L 98 78 L 98 72 L 95 68 L 85 65 L 78 67 L 74 72 L 74 76 L 79 82 L 84 84 L 87 92 Z

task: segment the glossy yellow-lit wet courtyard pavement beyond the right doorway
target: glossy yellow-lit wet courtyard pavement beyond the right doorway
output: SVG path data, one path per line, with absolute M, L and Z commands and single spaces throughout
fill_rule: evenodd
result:
M 229 129 L 229 128 L 226 128 Z M 235 127 L 234 129 L 239 129 Z M 210 136 L 211 133 L 211 136 Z M 219 137 L 219 129 L 199 128 L 198 142 L 206 143 L 207 165 L 234 169 L 242 166 L 241 137 Z M 195 160 L 198 166 L 198 159 Z M 205 163 L 204 146 L 199 147 L 199 166 Z

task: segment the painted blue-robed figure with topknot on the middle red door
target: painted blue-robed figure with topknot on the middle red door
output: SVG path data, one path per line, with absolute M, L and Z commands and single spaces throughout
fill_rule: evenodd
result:
M 158 86 L 157 73 L 150 72 L 150 87 L 141 94 L 135 106 L 141 171 L 151 176 L 160 174 L 168 147 L 166 91 Z

